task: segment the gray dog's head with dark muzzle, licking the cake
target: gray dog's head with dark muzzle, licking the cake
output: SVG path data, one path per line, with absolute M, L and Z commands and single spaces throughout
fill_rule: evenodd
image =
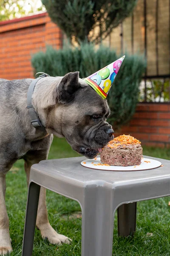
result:
M 58 103 L 48 115 L 48 132 L 64 136 L 78 153 L 94 158 L 113 139 L 108 103 L 79 79 L 79 73 L 60 78 L 53 92 Z

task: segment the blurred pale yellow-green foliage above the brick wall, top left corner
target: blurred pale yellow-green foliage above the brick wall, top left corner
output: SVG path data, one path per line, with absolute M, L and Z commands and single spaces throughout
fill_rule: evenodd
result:
M 0 21 L 45 10 L 40 0 L 0 0 Z

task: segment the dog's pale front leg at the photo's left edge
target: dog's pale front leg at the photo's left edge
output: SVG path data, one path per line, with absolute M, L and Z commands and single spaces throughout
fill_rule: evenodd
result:
M 12 251 L 9 235 L 9 218 L 5 204 L 5 193 L 6 175 L 0 174 L 0 255 L 5 255 Z

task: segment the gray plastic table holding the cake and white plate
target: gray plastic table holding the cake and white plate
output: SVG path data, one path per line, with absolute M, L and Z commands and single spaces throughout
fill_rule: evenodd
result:
M 116 209 L 119 235 L 132 235 L 136 229 L 136 202 L 170 195 L 170 160 L 147 158 L 159 160 L 164 166 L 146 171 L 108 172 L 81 166 L 85 157 L 34 164 L 29 181 L 22 256 L 32 255 L 40 186 L 79 202 L 82 256 L 111 256 Z

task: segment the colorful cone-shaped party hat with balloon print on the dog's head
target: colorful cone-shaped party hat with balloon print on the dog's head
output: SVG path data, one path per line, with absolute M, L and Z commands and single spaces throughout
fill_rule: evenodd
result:
M 102 96 L 103 99 L 106 99 L 124 59 L 125 55 L 108 66 L 103 67 L 93 75 L 86 77 L 84 80 L 96 91 L 96 93 Z

